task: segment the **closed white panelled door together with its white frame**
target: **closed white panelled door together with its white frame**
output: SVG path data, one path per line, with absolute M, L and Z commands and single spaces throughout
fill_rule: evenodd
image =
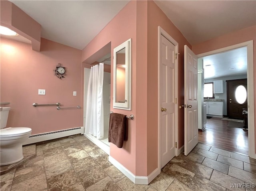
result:
M 178 43 L 158 26 L 158 170 L 178 156 Z M 176 56 L 177 57 L 177 56 Z

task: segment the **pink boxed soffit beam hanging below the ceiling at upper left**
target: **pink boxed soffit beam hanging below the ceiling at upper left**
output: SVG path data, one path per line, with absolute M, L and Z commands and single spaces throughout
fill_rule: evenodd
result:
M 41 25 L 9 1 L 0 1 L 1 26 L 31 40 L 32 49 L 40 51 Z

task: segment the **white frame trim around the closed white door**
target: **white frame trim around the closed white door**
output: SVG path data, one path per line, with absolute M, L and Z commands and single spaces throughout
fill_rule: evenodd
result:
M 160 45 L 160 38 L 161 35 L 163 35 L 164 37 L 166 37 L 172 44 L 175 45 L 175 49 L 176 49 L 176 53 L 178 55 L 178 42 L 175 41 L 167 32 L 165 32 L 160 26 L 158 26 L 158 172 L 161 172 L 161 153 L 160 153 L 160 136 L 161 136 L 161 131 L 160 131 L 160 49 L 161 49 L 161 45 Z M 175 55 L 174 55 L 175 56 Z M 175 107 L 175 122 L 174 122 L 174 132 L 175 132 L 175 142 L 177 142 L 177 148 L 175 148 L 175 155 L 178 156 L 179 155 L 179 145 L 178 145 L 178 56 L 175 62 L 175 97 L 177 98 L 176 101 L 176 107 Z

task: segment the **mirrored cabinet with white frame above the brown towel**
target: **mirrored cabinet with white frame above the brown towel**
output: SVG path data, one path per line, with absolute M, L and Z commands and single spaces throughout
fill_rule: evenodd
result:
M 131 110 L 131 39 L 114 48 L 113 108 Z

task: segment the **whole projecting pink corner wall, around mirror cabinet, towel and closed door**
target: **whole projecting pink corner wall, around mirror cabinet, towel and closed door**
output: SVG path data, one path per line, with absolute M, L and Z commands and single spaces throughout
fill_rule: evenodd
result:
M 110 144 L 110 156 L 136 176 L 148 176 L 158 167 L 158 26 L 179 43 L 179 104 L 184 102 L 183 46 L 191 45 L 153 1 L 131 1 L 84 48 L 82 61 L 111 42 L 114 47 L 132 39 L 132 110 L 114 112 L 130 115 L 128 141 L 122 149 Z M 85 64 L 83 66 L 85 67 Z M 113 65 L 113 63 L 111 63 Z M 111 74 L 111 84 L 113 75 Z M 111 97 L 113 85 L 111 85 Z M 184 110 L 179 111 L 179 146 L 184 144 Z

